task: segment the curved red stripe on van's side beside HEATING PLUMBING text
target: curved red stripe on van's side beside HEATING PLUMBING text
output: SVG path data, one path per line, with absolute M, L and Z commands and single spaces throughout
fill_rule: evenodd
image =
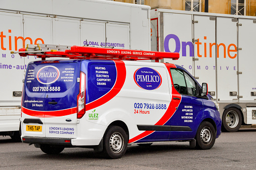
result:
M 86 111 L 91 110 L 96 107 L 99 107 L 99 106 L 107 103 L 113 97 L 115 97 L 122 89 L 124 82 L 125 82 L 125 78 L 126 78 L 125 64 L 123 61 L 115 60 L 114 62 L 116 63 L 116 68 L 117 68 L 117 79 L 116 79 L 116 83 L 115 83 L 114 87 L 107 94 L 102 96 L 101 98 L 99 98 L 91 103 L 86 104 Z

